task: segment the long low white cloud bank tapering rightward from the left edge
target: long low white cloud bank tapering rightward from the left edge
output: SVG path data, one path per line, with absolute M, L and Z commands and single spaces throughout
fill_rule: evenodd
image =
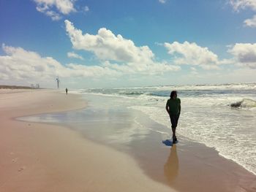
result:
M 34 51 L 24 50 L 22 47 L 2 45 L 6 55 L 0 55 L 1 80 L 9 82 L 54 82 L 57 76 L 61 78 L 89 77 L 91 80 L 99 78 L 117 78 L 123 75 L 150 75 L 162 72 L 179 70 L 179 66 L 151 63 L 145 65 L 110 64 L 102 61 L 101 64 L 86 66 L 81 64 L 63 65 L 52 57 L 43 57 Z M 75 53 L 69 53 L 71 57 L 78 57 Z M 140 77 L 140 76 L 139 76 Z

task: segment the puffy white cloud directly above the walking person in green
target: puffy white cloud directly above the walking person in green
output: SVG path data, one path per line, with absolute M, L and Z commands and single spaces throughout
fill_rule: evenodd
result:
M 165 42 L 165 47 L 172 55 L 175 64 L 200 66 L 203 69 L 219 69 L 218 56 L 208 50 L 208 47 L 200 47 L 195 42 Z

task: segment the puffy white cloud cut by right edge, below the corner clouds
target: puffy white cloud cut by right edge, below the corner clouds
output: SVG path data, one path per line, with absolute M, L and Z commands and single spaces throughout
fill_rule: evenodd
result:
M 228 50 L 238 64 L 256 69 L 256 43 L 236 43 Z

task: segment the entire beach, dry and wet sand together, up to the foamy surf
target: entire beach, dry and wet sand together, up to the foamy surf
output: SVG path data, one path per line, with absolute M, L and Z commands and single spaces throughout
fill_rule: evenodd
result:
M 213 147 L 181 135 L 163 145 L 162 126 L 115 97 L 5 91 L 0 98 L 0 191 L 256 190 L 255 174 Z

